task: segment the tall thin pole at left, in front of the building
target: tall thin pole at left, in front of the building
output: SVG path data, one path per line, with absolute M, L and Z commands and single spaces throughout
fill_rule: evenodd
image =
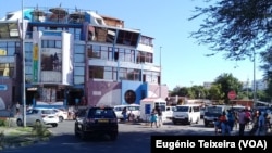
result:
M 23 65 L 23 77 L 22 77 L 22 92 L 23 92 L 23 118 L 24 118 L 24 127 L 26 127 L 26 100 L 25 100 L 25 41 L 24 41 L 24 0 L 22 0 L 22 65 Z

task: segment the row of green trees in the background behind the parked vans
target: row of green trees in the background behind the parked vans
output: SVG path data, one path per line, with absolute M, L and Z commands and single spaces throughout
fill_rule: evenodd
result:
M 243 84 L 232 74 L 222 74 L 218 76 L 210 88 L 203 86 L 176 87 L 170 92 L 170 97 L 186 97 L 189 99 L 210 99 L 213 101 L 230 103 L 227 93 L 234 90 L 237 93 L 236 99 L 254 99 L 254 91 L 249 88 L 243 88 Z M 260 101 L 271 101 L 270 94 L 265 91 L 257 90 L 257 99 Z M 180 102 L 182 103 L 182 102 Z

